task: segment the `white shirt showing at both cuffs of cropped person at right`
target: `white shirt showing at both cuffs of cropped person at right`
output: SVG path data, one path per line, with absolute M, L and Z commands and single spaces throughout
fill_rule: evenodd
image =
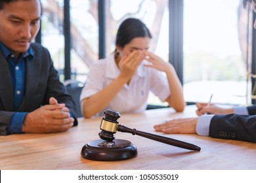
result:
M 234 107 L 234 114 L 248 115 L 248 110 L 246 107 Z M 213 114 L 202 115 L 198 118 L 198 123 L 196 124 L 196 133 L 202 136 L 209 136 L 209 127 L 211 123 L 211 118 Z

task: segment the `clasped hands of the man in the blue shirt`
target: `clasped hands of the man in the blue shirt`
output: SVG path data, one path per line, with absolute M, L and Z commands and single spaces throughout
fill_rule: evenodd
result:
M 26 115 L 22 131 L 26 133 L 54 133 L 67 131 L 72 127 L 74 118 L 64 104 L 59 104 L 54 97 L 49 99 L 49 105 L 37 108 Z

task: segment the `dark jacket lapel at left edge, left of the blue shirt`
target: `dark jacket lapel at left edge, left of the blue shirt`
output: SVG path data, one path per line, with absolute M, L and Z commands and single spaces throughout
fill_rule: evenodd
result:
M 0 97 L 5 110 L 13 110 L 13 88 L 7 60 L 0 51 Z

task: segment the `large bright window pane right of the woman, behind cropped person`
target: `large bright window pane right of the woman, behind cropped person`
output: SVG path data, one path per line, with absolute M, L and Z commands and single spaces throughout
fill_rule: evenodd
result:
M 184 0 L 186 101 L 247 105 L 247 15 L 240 0 Z

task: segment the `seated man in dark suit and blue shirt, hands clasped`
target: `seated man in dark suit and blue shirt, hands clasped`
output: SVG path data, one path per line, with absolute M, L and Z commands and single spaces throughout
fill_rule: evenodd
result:
M 39 31 L 39 0 L 0 1 L 0 135 L 67 131 L 74 102 L 58 79 Z

